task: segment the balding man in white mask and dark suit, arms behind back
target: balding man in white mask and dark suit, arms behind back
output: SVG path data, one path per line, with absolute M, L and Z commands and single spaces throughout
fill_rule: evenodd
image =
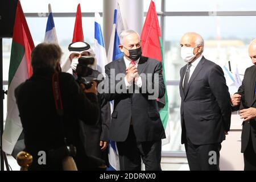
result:
M 202 55 L 204 40 L 199 34 L 184 34 L 180 46 L 186 63 L 180 69 L 181 143 L 191 170 L 219 170 L 221 142 L 231 117 L 224 73 Z

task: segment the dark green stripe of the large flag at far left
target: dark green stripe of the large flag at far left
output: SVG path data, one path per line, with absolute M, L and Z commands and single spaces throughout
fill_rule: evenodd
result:
M 25 49 L 22 45 L 15 43 L 11 44 L 11 59 L 10 59 L 10 66 L 9 66 L 9 86 L 11 81 L 13 81 L 13 77 L 19 68 L 19 65 L 23 59 L 25 54 Z

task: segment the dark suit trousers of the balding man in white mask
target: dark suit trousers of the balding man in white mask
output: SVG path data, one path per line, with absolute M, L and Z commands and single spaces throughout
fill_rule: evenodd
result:
M 196 145 L 187 138 L 185 151 L 191 171 L 219 171 L 221 143 Z

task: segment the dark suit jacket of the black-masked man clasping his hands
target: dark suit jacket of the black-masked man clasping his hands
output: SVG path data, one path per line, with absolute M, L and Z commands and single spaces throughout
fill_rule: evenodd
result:
M 119 75 L 119 80 L 110 80 L 110 71 L 114 71 L 113 78 Z M 141 57 L 138 63 L 138 73 L 151 73 L 151 78 L 142 76 L 142 88 L 138 89 L 135 84 L 131 86 L 129 90 L 126 87 L 121 86 L 122 92 L 118 92 L 114 89 L 117 84 L 125 85 L 126 65 L 123 57 L 115 60 L 105 66 L 106 79 L 105 79 L 105 93 L 104 97 L 108 101 L 114 100 L 114 111 L 112 113 L 112 120 L 110 122 L 110 139 L 116 142 L 123 142 L 126 140 L 130 122 L 132 121 L 135 137 L 137 141 L 152 141 L 165 138 L 165 133 L 162 125 L 162 121 L 159 115 L 158 104 L 156 98 L 161 98 L 165 93 L 165 86 L 162 75 L 162 63 L 149 59 L 147 57 Z M 158 73 L 159 77 L 154 84 L 154 73 Z M 150 75 L 148 75 L 150 76 Z M 159 82 L 159 84 L 157 84 Z M 154 92 L 151 92 L 147 88 L 155 88 Z M 144 89 L 146 88 L 146 89 Z M 134 92 L 138 92 L 135 93 Z M 158 93 L 158 94 L 157 94 Z M 148 96 L 158 95 L 154 99 L 149 100 Z

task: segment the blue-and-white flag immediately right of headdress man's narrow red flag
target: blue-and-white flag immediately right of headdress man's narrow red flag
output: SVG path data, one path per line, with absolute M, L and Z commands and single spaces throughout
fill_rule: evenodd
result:
M 105 75 L 105 65 L 108 64 L 108 59 L 106 57 L 106 49 L 101 31 L 101 16 L 99 13 L 95 13 L 94 42 L 94 52 L 97 59 L 97 70 Z

